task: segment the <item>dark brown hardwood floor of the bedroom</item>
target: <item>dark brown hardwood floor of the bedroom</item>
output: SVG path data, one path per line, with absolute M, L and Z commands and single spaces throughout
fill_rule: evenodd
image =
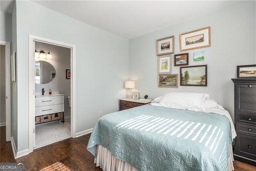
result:
M 90 134 L 48 145 L 14 159 L 11 142 L 6 142 L 5 126 L 0 127 L 0 160 L 26 164 L 26 171 L 102 171 L 94 164 L 94 156 L 86 147 Z M 234 161 L 235 171 L 256 171 L 256 166 Z

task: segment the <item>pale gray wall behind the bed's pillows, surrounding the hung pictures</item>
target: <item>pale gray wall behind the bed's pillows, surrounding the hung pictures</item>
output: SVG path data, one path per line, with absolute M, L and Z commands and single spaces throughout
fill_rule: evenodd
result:
M 180 52 L 180 34 L 207 26 L 211 26 L 210 47 Z M 234 118 L 231 78 L 236 78 L 236 66 L 255 63 L 255 31 L 255 2 L 250 1 L 129 40 L 129 72 L 130 79 L 136 81 L 134 91 L 152 99 L 166 92 L 208 93 Z M 158 87 L 156 40 L 168 36 L 175 36 L 175 54 L 189 53 L 190 66 L 208 65 L 207 87 Z M 205 61 L 193 62 L 193 52 L 202 50 Z M 180 67 L 174 66 L 173 54 L 172 74 L 180 76 Z

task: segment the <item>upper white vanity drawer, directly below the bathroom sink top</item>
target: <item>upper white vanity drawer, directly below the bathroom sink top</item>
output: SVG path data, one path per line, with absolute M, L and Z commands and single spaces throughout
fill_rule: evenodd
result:
M 44 96 L 44 97 L 36 97 L 36 107 L 38 106 L 46 106 L 46 105 L 56 105 L 64 103 L 64 96 Z

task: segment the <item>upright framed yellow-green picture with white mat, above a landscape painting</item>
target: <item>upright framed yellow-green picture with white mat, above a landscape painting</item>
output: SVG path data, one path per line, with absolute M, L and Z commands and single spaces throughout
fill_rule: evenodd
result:
M 158 56 L 158 74 L 171 74 L 171 56 Z

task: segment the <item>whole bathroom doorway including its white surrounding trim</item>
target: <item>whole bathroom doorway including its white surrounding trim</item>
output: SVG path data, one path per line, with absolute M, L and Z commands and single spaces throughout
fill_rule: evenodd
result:
M 75 46 L 29 36 L 29 152 L 75 137 Z

